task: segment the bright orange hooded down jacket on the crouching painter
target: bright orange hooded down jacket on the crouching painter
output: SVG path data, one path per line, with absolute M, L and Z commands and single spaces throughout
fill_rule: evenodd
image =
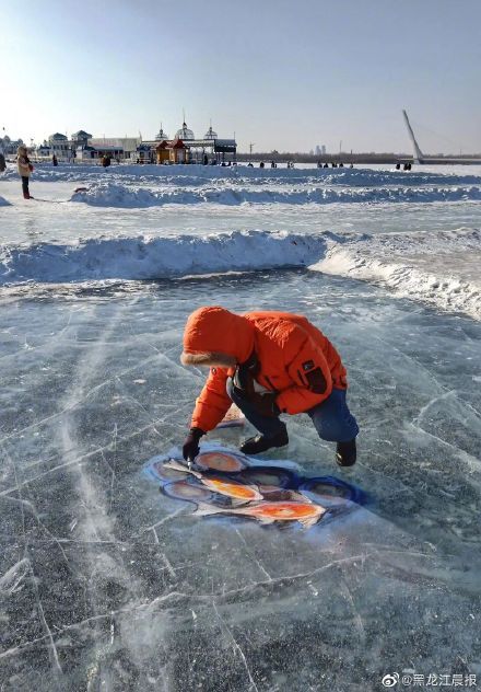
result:
M 199 308 L 187 320 L 185 353 L 223 353 L 238 364 L 256 353 L 256 380 L 277 392 L 282 413 L 303 413 L 320 404 L 332 388 L 347 389 L 345 368 L 329 339 L 306 318 L 289 312 L 235 314 L 220 307 Z M 196 401 L 191 427 L 212 430 L 231 406 L 226 380 L 235 368 L 211 368 Z

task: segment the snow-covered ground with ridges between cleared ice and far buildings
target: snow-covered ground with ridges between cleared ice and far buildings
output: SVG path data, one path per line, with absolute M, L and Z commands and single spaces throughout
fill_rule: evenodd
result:
M 0 183 L 2 284 L 314 264 L 481 316 L 480 166 L 39 165 L 32 192 Z

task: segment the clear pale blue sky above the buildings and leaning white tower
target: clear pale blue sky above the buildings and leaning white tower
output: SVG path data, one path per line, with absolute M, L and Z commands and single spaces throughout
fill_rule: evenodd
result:
M 481 151 L 481 0 L 0 0 L 0 128 Z

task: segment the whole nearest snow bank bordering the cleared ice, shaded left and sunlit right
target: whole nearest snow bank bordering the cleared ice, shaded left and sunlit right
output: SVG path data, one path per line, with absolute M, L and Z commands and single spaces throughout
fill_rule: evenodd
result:
M 295 234 L 235 231 L 3 246 L 0 285 L 165 279 L 303 267 L 382 284 L 396 295 L 481 320 L 481 231 Z

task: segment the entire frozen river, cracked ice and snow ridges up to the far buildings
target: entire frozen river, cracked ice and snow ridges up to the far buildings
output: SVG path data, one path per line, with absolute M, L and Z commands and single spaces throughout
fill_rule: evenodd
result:
M 61 204 L 0 181 L 1 689 L 479 685 L 479 170 L 40 170 L 32 193 Z M 203 376 L 181 334 L 210 303 L 300 312 L 332 339 L 356 465 L 304 415 L 263 457 L 367 505 L 265 528 L 195 517 L 145 477 L 185 436 Z

